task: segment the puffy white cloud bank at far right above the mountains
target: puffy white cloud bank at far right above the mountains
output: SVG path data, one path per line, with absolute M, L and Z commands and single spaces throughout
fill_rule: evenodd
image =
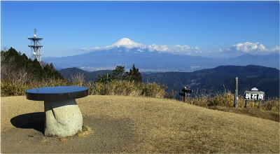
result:
M 229 48 L 220 48 L 220 52 L 225 53 L 251 53 L 251 54 L 269 54 L 271 52 L 275 52 L 276 50 L 279 50 L 279 46 L 276 46 L 275 48 L 268 49 L 265 47 L 265 45 L 259 43 L 259 42 L 244 42 L 244 43 L 237 43 L 235 45 L 230 46 Z

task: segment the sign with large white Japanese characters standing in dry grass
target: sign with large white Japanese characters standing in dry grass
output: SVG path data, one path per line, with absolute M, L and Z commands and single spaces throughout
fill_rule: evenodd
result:
M 260 107 L 260 102 L 265 105 L 265 92 L 258 91 L 257 88 L 253 87 L 251 91 L 244 92 L 245 107 L 248 106 L 248 101 L 257 101 L 258 107 Z

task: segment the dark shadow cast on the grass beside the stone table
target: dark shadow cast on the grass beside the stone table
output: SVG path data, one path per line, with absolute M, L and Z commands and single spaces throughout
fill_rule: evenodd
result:
M 36 113 L 27 113 L 22 114 L 20 116 L 15 116 L 10 119 L 10 123 L 13 126 L 18 128 L 25 129 L 34 129 L 38 132 L 43 133 L 44 123 L 45 123 L 45 113 L 44 112 L 36 112 Z

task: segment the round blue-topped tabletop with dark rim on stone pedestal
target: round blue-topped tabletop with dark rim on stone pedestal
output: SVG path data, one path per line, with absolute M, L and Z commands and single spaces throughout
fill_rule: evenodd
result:
M 63 101 L 78 99 L 87 95 L 87 87 L 80 86 L 38 87 L 26 90 L 27 99 L 34 101 Z

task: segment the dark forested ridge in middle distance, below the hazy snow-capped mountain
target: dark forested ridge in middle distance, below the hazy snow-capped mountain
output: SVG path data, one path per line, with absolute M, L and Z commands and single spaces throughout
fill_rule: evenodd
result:
M 76 73 L 84 73 L 86 80 L 95 80 L 98 74 L 111 73 L 111 71 L 83 71 L 77 68 L 62 69 L 64 78 L 69 78 Z M 266 97 L 279 97 L 279 69 L 265 66 L 218 66 L 214 69 L 203 69 L 194 72 L 165 72 L 165 73 L 141 73 L 143 82 L 160 83 L 167 85 L 167 92 L 172 90 L 177 94 L 183 86 L 196 92 L 205 94 L 217 94 L 225 90 L 234 91 L 235 77 L 239 78 L 239 94 L 245 90 L 257 87 L 264 91 Z

